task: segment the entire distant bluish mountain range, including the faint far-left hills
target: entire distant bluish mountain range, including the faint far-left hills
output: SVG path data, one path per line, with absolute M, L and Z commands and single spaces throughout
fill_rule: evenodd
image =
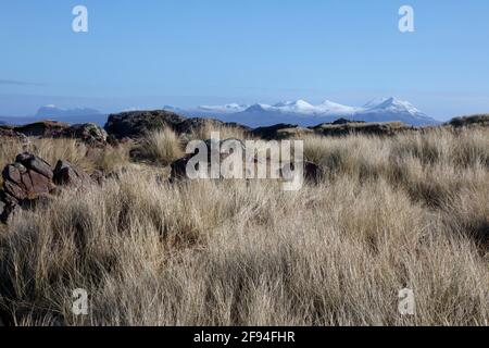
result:
M 425 126 L 440 122 L 429 117 L 408 101 L 397 98 L 379 98 L 363 107 L 349 107 L 329 100 L 311 104 L 304 100 L 285 101 L 276 104 L 256 103 L 252 105 L 230 103 L 225 105 L 200 105 L 180 109 L 165 105 L 162 109 L 185 116 L 213 117 L 224 122 L 236 122 L 250 127 L 269 126 L 279 123 L 315 126 L 334 122 L 340 117 L 365 122 L 400 121 L 409 125 Z M 92 122 L 104 125 L 106 114 L 88 108 L 61 109 L 55 105 L 40 108 L 34 116 L 1 117 L 0 123 L 25 124 L 40 120 L 55 120 L 71 124 Z

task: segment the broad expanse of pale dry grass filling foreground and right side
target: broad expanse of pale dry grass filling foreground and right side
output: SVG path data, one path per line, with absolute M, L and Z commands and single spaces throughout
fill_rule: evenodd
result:
M 310 137 L 327 175 L 296 192 L 139 171 L 65 191 L 3 234 L 0 303 L 20 325 L 488 325 L 487 132 Z

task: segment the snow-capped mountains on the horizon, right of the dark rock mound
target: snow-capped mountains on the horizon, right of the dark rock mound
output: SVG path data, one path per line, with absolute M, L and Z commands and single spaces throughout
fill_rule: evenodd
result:
M 329 100 L 321 104 L 311 104 L 305 100 L 284 101 L 276 104 L 256 103 L 250 107 L 227 104 L 222 107 L 200 107 L 193 116 L 210 113 L 223 121 L 238 122 L 249 126 L 266 126 L 277 123 L 292 123 L 301 126 L 333 122 L 340 117 L 365 122 L 401 121 L 406 124 L 423 126 L 438 122 L 408 101 L 397 98 L 378 98 L 364 107 L 349 107 Z

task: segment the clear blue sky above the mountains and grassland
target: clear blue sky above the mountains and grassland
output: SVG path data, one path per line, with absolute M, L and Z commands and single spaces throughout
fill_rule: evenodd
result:
M 487 0 L 2 1 L 0 115 L 397 96 L 447 119 L 489 111 L 488 42 Z

